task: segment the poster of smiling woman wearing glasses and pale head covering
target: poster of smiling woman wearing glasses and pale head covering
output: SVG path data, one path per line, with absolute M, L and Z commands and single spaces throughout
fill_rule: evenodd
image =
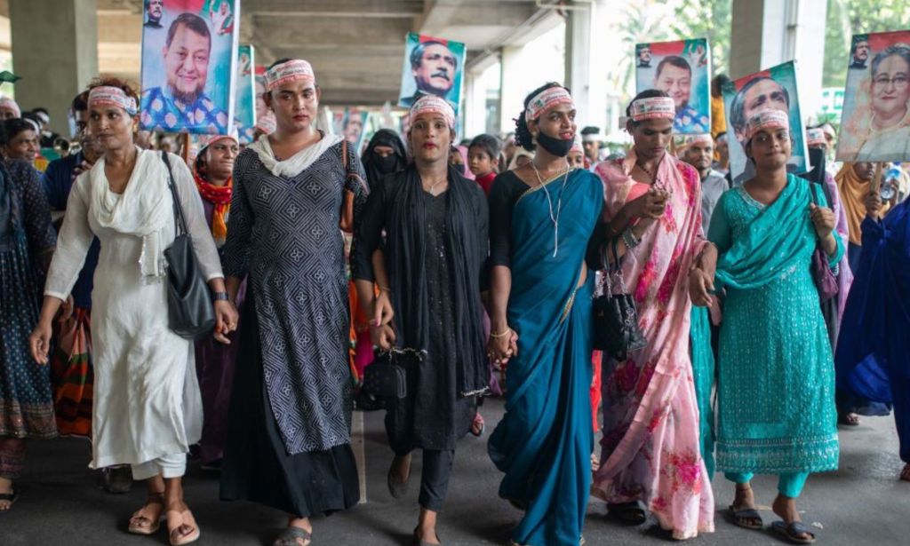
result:
M 910 30 L 854 35 L 837 160 L 910 161 Z

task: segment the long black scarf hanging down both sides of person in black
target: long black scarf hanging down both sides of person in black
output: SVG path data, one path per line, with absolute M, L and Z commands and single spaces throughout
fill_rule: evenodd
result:
M 426 350 L 430 345 L 430 303 L 425 263 L 426 209 L 417 167 L 411 163 L 388 184 L 388 233 L 386 263 L 389 267 L 392 306 L 398 310 L 399 345 Z M 452 259 L 455 302 L 455 342 L 459 347 L 458 393 L 472 396 L 489 387 L 488 361 L 483 348 L 483 312 L 480 276 L 489 245 L 478 228 L 486 216 L 486 199 L 480 187 L 449 167 L 446 208 L 446 246 Z M 485 224 L 485 218 L 482 221 Z M 484 239 L 481 241 L 481 239 Z M 409 294 L 402 297 L 402 294 Z

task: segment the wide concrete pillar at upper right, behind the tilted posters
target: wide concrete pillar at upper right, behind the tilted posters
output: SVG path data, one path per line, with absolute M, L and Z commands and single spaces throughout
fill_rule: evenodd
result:
M 804 116 L 822 100 L 826 0 L 733 0 L 733 79 L 796 60 Z

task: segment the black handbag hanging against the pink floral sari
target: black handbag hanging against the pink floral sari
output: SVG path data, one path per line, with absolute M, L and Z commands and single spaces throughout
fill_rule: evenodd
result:
M 613 253 L 611 266 L 604 248 L 601 255 L 603 260 L 602 293 L 594 298 L 594 349 L 606 352 L 617 361 L 624 361 L 630 352 L 642 350 L 648 341 L 638 327 L 638 310 L 635 300 L 628 293 L 625 282 L 622 280 L 621 262 L 616 246 L 619 239 L 608 243 Z M 612 293 L 611 277 L 619 278 L 620 293 Z

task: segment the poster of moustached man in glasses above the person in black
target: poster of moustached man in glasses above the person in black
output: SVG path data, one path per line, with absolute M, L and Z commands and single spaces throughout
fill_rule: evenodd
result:
M 399 106 L 410 108 L 420 96 L 435 94 L 446 99 L 458 115 L 466 51 L 460 42 L 409 33 L 404 47 Z

